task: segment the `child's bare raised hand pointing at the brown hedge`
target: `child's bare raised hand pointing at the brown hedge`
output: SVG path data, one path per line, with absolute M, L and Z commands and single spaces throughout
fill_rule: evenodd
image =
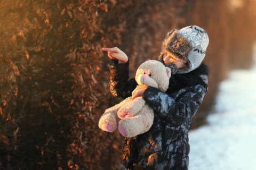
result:
M 127 55 L 122 52 L 119 48 L 102 48 L 103 51 L 108 52 L 108 57 L 110 59 L 116 58 L 118 63 L 126 63 L 128 61 Z

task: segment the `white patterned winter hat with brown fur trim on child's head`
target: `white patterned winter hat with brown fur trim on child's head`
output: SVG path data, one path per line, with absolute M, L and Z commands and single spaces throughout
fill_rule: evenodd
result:
M 161 54 L 171 52 L 188 63 L 188 68 L 178 69 L 177 73 L 188 73 L 195 70 L 205 57 L 209 37 L 204 29 L 191 25 L 180 30 L 167 33 Z

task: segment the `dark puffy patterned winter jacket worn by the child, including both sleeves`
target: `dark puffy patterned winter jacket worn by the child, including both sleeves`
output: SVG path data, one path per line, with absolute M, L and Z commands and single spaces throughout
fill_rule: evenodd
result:
M 166 93 L 148 87 L 143 94 L 154 109 L 150 130 L 134 138 L 125 138 L 121 158 L 127 169 L 188 169 L 188 129 L 207 91 L 208 68 L 201 64 L 186 74 L 174 74 Z M 111 93 L 119 98 L 131 96 L 135 79 L 129 79 L 129 62 L 110 64 Z

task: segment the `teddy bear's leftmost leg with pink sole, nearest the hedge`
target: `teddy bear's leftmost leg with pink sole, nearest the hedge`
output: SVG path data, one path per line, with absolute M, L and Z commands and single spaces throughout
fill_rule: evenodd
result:
M 106 109 L 105 113 L 100 117 L 99 128 L 103 131 L 114 132 L 117 128 L 117 111 L 124 103 L 130 100 L 131 99 L 127 98 L 121 103 Z

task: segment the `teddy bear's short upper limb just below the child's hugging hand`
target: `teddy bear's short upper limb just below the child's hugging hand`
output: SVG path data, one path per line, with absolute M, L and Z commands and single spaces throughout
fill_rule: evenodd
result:
M 128 103 L 125 103 L 117 112 L 119 118 L 133 117 L 139 113 L 146 101 L 142 97 L 137 97 Z

